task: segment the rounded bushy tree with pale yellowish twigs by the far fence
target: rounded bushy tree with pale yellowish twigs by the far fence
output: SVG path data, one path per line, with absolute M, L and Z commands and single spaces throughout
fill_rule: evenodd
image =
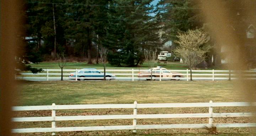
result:
M 187 32 L 179 32 L 177 35 L 178 46 L 174 53 L 180 56 L 190 70 L 190 80 L 192 81 L 192 69 L 206 59 L 206 53 L 209 52 L 211 46 L 207 44 L 210 40 L 208 33 L 201 30 L 188 30 Z

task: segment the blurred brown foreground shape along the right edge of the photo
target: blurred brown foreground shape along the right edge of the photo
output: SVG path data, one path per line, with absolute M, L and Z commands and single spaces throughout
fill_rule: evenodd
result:
M 256 57 L 256 33 L 248 35 L 250 26 L 256 25 L 256 0 L 202 0 L 206 26 L 217 49 L 229 58 L 229 70 L 236 70 L 239 80 L 235 87 L 242 92 L 241 101 L 256 102 L 256 80 L 249 80 L 242 70 Z M 249 33 L 250 34 L 250 33 Z M 240 71 L 240 72 L 239 72 Z M 255 78 L 255 77 L 254 77 Z M 255 107 L 252 108 L 255 111 Z

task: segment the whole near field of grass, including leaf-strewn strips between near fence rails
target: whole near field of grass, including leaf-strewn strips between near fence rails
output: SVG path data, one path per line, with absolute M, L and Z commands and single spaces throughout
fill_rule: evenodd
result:
M 56 104 L 116 104 L 116 103 L 191 103 L 191 102 L 242 102 L 242 93 L 235 89 L 235 82 L 230 81 L 20 81 L 18 105 Z M 215 113 L 248 112 L 241 107 L 214 108 Z M 138 109 L 138 114 L 172 114 L 172 113 L 207 113 L 208 108 L 158 108 Z M 58 110 L 57 116 L 76 115 L 114 115 L 132 114 L 133 109 L 90 109 Z M 17 117 L 50 116 L 50 111 L 22 111 Z M 144 124 L 193 124 L 207 123 L 208 118 L 184 119 L 138 119 L 138 125 Z M 250 118 L 214 118 L 214 123 L 250 123 Z M 50 127 L 50 122 L 18 123 L 17 128 Z M 132 125 L 132 120 L 88 120 L 61 121 L 57 127 Z M 218 129 L 218 136 L 254 136 L 250 128 Z M 15 134 L 16 136 L 49 136 L 50 133 Z M 160 129 L 59 132 L 59 136 L 215 136 L 205 129 Z

